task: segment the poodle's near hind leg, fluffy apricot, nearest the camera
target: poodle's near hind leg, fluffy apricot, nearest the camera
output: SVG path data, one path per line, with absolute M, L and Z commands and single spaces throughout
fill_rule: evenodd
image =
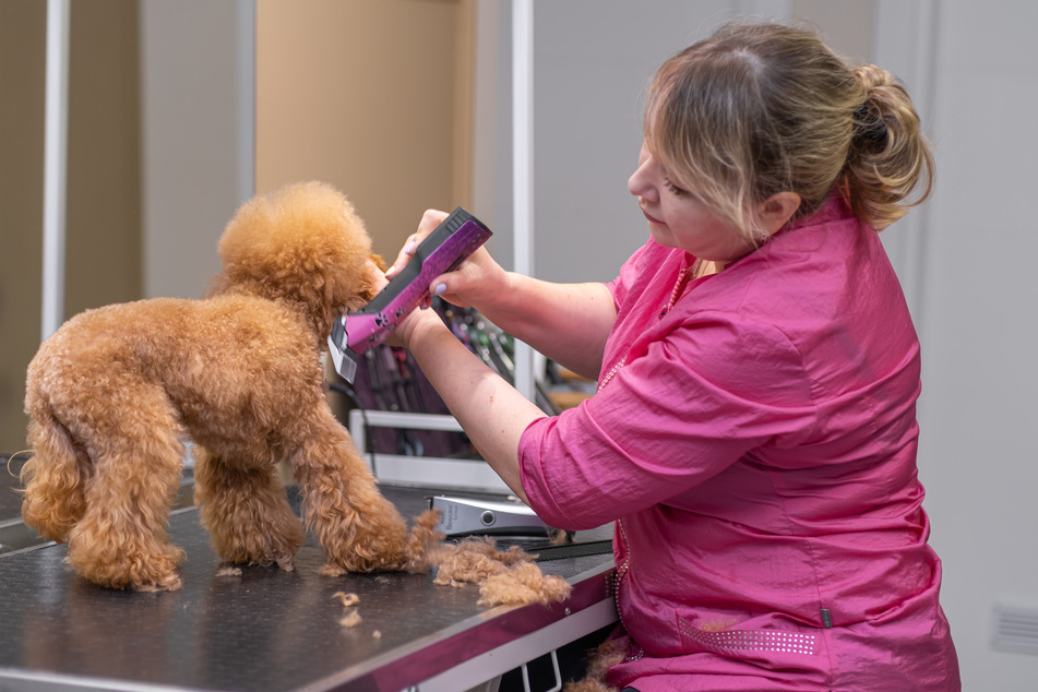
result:
M 177 418 L 157 385 L 118 371 L 103 392 L 104 406 L 68 425 L 94 458 L 86 511 L 69 532 L 68 561 L 85 578 L 112 588 L 180 588 L 183 551 L 169 545 L 169 508 L 183 467 Z

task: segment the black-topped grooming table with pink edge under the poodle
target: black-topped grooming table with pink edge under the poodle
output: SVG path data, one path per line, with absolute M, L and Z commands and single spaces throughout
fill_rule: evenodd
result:
M 487 497 L 383 492 L 408 518 L 437 492 Z M 461 692 L 617 619 L 609 527 L 575 536 L 587 549 L 572 552 L 596 554 L 539 562 L 573 584 L 565 602 L 492 609 L 476 605 L 476 585 L 437 586 L 434 572 L 322 576 L 312 541 L 293 572 L 218 576 L 194 508 L 175 511 L 170 534 L 188 553 L 178 592 L 94 586 L 62 563 L 64 546 L 0 554 L 0 691 Z M 359 625 L 339 624 L 337 592 L 358 595 Z

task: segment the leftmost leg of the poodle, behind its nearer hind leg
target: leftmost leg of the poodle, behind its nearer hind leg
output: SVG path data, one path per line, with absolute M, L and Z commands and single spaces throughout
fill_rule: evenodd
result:
M 34 411 L 28 426 L 34 455 L 20 474 L 25 499 L 22 518 L 51 540 L 63 542 L 86 510 L 93 466 L 53 414 Z

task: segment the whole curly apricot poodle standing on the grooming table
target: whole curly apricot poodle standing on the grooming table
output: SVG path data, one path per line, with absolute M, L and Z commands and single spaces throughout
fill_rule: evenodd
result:
M 406 523 L 325 399 L 332 323 L 375 293 L 362 222 L 333 188 L 290 186 L 242 205 L 219 254 L 206 298 L 88 310 L 43 344 L 23 518 L 68 541 L 96 584 L 179 588 L 184 556 L 166 527 L 190 440 L 201 521 L 226 562 L 291 569 L 305 534 L 277 482 L 285 460 L 325 573 L 403 568 Z

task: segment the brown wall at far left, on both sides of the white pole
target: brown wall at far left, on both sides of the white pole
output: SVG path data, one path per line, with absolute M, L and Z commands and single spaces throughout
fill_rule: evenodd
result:
M 46 2 L 0 0 L 0 452 L 39 345 Z M 73 3 L 65 317 L 140 297 L 135 0 Z

